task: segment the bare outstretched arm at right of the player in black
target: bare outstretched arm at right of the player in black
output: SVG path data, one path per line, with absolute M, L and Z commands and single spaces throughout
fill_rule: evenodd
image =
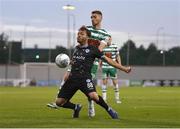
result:
M 112 60 L 111 58 L 109 58 L 109 57 L 107 57 L 107 56 L 103 56 L 103 59 L 104 59 L 108 64 L 112 65 L 113 67 L 115 67 L 115 68 L 117 68 L 117 69 L 119 69 L 119 70 L 121 70 L 121 71 L 124 71 L 124 72 L 126 72 L 126 73 L 131 72 L 131 67 L 130 67 L 130 66 L 128 66 L 128 67 L 123 66 L 122 64 L 117 63 L 116 61 Z

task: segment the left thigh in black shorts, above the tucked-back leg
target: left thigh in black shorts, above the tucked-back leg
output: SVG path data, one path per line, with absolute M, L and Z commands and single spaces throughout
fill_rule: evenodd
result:
M 68 79 L 60 89 L 57 98 L 70 100 L 77 90 L 78 88 L 76 87 L 75 81 Z

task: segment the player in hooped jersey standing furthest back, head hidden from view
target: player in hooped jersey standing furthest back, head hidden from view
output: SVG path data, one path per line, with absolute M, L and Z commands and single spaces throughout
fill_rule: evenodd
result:
M 121 63 L 118 47 L 116 44 L 112 44 L 111 40 L 108 42 L 107 47 L 103 49 L 103 53 L 104 55 L 113 59 L 114 61 Z M 116 68 L 114 68 L 113 66 L 109 65 L 107 62 L 104 62 L 104 61 L 101 62 L 101 67 L 102 67 L 102 78 L 103 78 L 103 85 L 101 87 L 103 99 L 105 101 L 107 100 L 107 93 L 106 93 L 107 82 L 108 82 L 108 78 L 111 78 L 113 82 L 113 86 L 114 86 L 116 103 L 121 103 L 119 99 L 119 86 L 118 86 Z

